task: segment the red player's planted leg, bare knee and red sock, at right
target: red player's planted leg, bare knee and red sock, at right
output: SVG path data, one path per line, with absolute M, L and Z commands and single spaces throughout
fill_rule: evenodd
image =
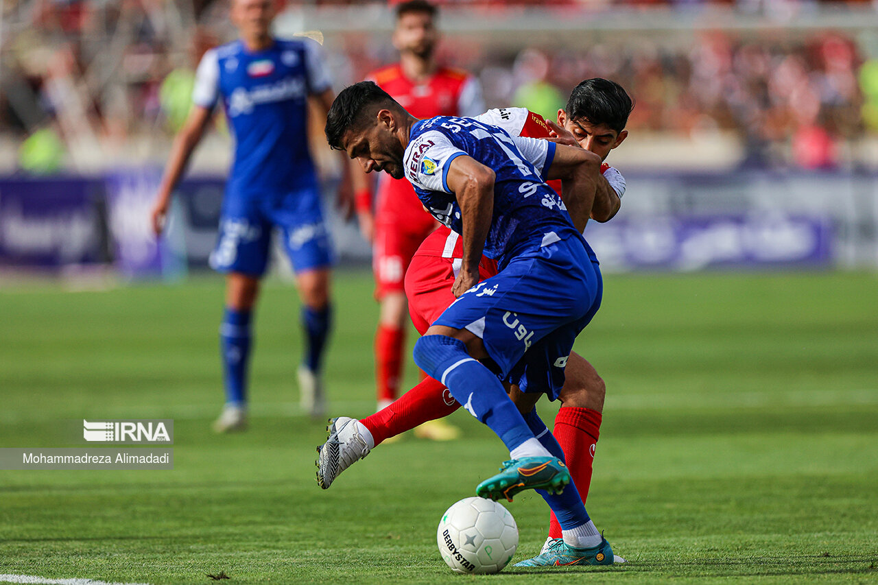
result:
M 582 502 L 586 502 L 595 446 L 600 437 L 606 386 L 594 367 L 575 351 L 567 360 L 565 376 L 553 434 L 565 452 L 567 466 Z M 561 526 L 554 514 L 550 518 L 549 538 L 561 538 Z

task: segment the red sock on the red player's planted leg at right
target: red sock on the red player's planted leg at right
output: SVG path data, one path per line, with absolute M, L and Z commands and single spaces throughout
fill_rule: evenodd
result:
M 564 450 L 570 477 L 579 490 L 582 503 L 586 503 L 588 487 L 592 483 L 594 446 L 601 434 L 601 413 L 591 408 L 561 407 L 552 434 Z M 554 514 L 549 519 L 549 536 L 561 538 L 561 524 Z

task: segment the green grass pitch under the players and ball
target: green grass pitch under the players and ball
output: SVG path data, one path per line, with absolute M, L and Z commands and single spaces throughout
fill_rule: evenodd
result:
M 878 581 L 878 278 L 834 272 L 608 275 L 577 342 L 607 381 L 589 512 L 630 563 L 474 577 L 497 583 Z M 0 446 L 68 446 L 71 419 L 175 419 L 175 469 L 0 471 L 0 574 L 148 583 L 468 581 L 435 527 L 507 458 L 405 437 L 322 491 L 324 423 L 298 408 L 299 303 L 270 280 L 256 318 L 252 425 L 216 436 L 218 277 L 0 292 Z M 374 408 L 377 307 L 335 280 L 333 415 Z M 407 382 L 416 379 L 408 362 Z M 551 423 L 554 409 L 540 407 Z M 66 432 L 66 431 L 65 431 Z M 508 505 L 515 560 L 547 510 Z

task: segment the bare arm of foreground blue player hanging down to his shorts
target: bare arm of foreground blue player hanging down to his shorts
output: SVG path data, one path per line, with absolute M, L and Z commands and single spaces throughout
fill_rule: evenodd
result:
M 459 155 L 450 162 L 446 182 L 460 206 L 464 257 L 451 292 L 459 297 L 479 284 L 479 261 L 493 216 L 494 171 L 471 156 Z

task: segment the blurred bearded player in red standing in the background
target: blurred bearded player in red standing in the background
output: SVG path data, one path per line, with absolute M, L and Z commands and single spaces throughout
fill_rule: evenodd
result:
M 479 82 L 464 71 L 442 67 L 436 61 L 436 18 L 436 7 L 425 0 L 399 4 L 393 32 L 399 62 L 373 71 L 368 79 L 418 118 L 475 116 L 484 112 Z M 361 230 L 373 242 L 375 296 L 381 307 L 375 336 L 375 377 L 381 409 L 399 395 L 407 328 L 403 278 L 414 250 L 438 224 L 424 213 L 412 185 L 404 178 L 381 174 L 377 199 L 373 213 L 371 189 L 356 192 Z M 416 433 L 435 439 L 457 437 L 457 429 L 443 421 L 432 422 Z

